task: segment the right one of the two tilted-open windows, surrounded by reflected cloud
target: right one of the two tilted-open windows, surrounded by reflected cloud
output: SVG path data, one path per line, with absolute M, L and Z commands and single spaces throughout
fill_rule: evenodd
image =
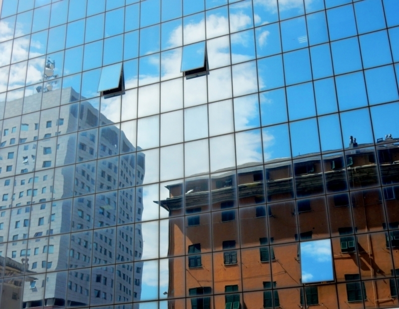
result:
M 183 46 L 180 71 L 187 79 L 203 76 L 208 70 L 205 42 Z

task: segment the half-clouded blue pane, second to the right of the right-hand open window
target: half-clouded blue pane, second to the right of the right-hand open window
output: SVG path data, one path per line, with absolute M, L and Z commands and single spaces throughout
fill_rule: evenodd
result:
M 230 35 L 232 64 L 255 59 L 255 37 L 253 30 Z

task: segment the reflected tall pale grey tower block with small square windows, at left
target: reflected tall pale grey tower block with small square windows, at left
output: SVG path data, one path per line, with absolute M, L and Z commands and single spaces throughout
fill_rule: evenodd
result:
M 127 262 L 143 250 L 141 225 L 133 224 L 142 197 L 132 187 L 143 181 L 144 155 L 90 101 L 66 105 L 78 97 L 72 88 L 27 96 L 29 105 L 61 98 L 61 107 L 4 121 L 0 241 L 10 243 L 0 244 L 1 308 L 140 299 L 141 274 L 133 278 Z

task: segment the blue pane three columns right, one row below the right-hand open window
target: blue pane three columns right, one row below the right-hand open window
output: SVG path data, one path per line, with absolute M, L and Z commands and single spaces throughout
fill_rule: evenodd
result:
M 259 59 L 257 62 L 259 91 L 284 86 L 283 61 L 281 55 Z

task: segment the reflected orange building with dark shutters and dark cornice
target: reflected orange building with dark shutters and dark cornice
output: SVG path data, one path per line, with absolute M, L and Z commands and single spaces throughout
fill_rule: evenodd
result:
M 379 141 L 377 153 L 351 144 L 345 154 L 303 156 L 169 184 L 169 198 L 160 201 L 169 212 L 168 293 L 190 297 L 186 303 L 169 301 L 170 308 L 272 308 L 273 302 L 298 308 L 305 299 L 327 308 L 363 299 L 397 304 L 395 279 L 387 277 L 398 271 L 391 261 L 392 254 L 398 263 L 398 233 L 390 230 L 399 227 L 399 187 L 375 188 L 379 174 L 384 184 L 398 183 L 399 148 L 392 142 L 397 140 Z M 298 241 L 323 238 L 332 240 L 338 300 L 331 282 L 301 284 Z M 172 258 L 181 252 L 184 260 Z M 186 270 L 185 281 L 180 269 Z M 360 278 L 382 280 L 356 282 Z

